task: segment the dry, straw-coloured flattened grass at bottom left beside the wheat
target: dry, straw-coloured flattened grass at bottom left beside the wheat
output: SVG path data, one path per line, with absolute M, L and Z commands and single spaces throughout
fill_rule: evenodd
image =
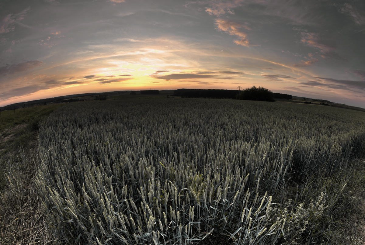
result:
M 31 144 L 35 146 L 34 141 Z M 51 244 L 45 212 L 34 186 L 34 156 L 24 151 L 19 155 L 19 159 L 8 162 L 9 186 L 0 193 L 0 244 Z

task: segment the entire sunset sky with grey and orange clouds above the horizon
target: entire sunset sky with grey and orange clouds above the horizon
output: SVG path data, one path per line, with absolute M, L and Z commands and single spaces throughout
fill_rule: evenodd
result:
M 251 86 L 365 108 L 365 1 L 0 1 L 0 106 Z

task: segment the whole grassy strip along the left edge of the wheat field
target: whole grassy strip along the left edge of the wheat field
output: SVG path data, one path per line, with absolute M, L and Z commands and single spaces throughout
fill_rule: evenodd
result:
M 50 244 L 38 191 L 38 123 L 61 105 L 42 105 L 1 112 L 0 244 Z

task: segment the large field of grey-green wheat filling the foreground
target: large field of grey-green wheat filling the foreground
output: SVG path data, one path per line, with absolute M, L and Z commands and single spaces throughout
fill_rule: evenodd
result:
M 61 243 L 341 239 L 364 112 L 167 95 L 70 103 L 40 125 L 37 188 Z

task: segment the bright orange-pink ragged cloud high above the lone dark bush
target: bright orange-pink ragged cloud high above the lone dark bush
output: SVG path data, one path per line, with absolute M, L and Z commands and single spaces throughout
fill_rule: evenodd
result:
M 238 36 L 239 39 L 234 40 L 236 44 L 249 47 L 249 40 L 247 39 L 247 34 L 243 32 L 242 29 L 245 28 L 246 30 L 251 30 L 250 27 L 242 23 L 228 19 L 216 19 L 215 24 L 217 26 L 216 28 L 217 30 L 224 31 L 229 35 Z

